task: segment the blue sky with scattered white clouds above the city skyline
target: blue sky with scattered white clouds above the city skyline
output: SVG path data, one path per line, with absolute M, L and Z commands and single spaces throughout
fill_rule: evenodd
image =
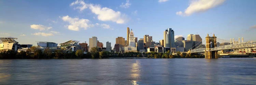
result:
M 123 3 L 123 4 L 122 4 Z M 20 44 L 36 41 L 63 43 L 87 41 L 92 36 L 104 44 L 134 35 L 209 34 L 229 40 L 256 40 L 256 0 L 1 0 L 0 36 L 17 37 Z M 129 25 L 128 25 L 129 24 Z

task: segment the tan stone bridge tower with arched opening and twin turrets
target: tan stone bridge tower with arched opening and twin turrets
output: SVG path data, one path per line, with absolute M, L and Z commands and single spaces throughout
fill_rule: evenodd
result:
M 217 37 L 214 34 L 212 37 L 210 37 L 209 34 L 207 34 L 207 36 L 205 37 L 205 41 L 205 58 L 218 58 L 218 51 L 211 51 L 211 48 L 217 47 Z

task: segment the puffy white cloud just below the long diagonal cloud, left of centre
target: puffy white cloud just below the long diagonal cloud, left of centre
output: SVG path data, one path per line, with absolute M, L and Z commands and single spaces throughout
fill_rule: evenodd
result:
M 68 29 L 73 31 L 79 31 L 80 28 L 84 28 L 84 30 L 87 30 L 87 28 L 93 27 L 93 24 L 88 24 L 90 20 L 88 19 L 79 19 L 79 18 L 71 18 L 69 16 L 63 16 L 63 21 L 69 22 Z

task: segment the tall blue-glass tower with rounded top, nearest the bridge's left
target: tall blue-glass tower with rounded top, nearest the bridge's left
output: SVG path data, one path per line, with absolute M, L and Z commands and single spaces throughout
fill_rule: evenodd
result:
M 166 35 L 166 48 L 175 48 L 174 44 L 174 31 L 171 28 L 167 29 Z

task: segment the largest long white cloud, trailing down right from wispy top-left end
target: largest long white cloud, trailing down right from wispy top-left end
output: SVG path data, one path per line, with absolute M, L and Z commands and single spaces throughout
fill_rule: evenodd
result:
M 79 9 L 80 11 L 83 11 L 84 9 L 89 8 L 91 12 L 96 14 L 97 18 L 101 21 L 113 21 L 119 24 L 122 24 L 128 21 L 125 14 L 122 14 L 119 11 L 114 11 L 108 7 L 101 7 L 100 5 L 94 5 L 94 4 L 86 4 L 84 1 L 79 1 L 79 0 L 72 2 L 70 6 L 73 6 L 76 4 L 80 6 L 77 6 L 74 9 Z

